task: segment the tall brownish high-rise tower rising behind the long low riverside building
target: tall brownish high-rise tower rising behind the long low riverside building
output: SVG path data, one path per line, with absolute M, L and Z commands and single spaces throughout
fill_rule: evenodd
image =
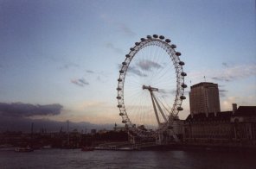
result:
M 189 92 L 190 114 L 221 112 L 218 84 L 202 82 L 192 85 Z

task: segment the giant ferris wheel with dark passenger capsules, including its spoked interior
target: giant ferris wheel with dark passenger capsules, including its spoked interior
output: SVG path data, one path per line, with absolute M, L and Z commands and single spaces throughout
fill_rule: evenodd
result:
M 120 66 L 119 116 L 137 135 L 155 135 L 157 130 L 170 127 L 183 110 L 187 74 L 175 48 L 163 35 L 148 35 L 135 42 Z

